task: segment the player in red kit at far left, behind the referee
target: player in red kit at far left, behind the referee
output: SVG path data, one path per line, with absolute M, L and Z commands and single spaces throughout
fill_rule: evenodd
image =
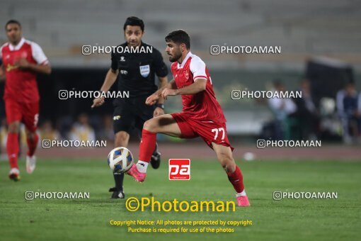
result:
M 6 150 L 11 170 L 8 174 L 13 181 L 20 180 L 18 169 L 20 123 L 25 124 L 28 153 L 26 171 L 35 169 L 35 149 L 38 145 L 36 128 L 39 118 L 39 93 L 36 74 L 50 74 L 49 61 L 41 47 L 22 37 L 21 24 L 10 20 L 5 25 L 8 43 L 0 48 L 1 68 L 5 72 L 5 112 L 8 123 Z

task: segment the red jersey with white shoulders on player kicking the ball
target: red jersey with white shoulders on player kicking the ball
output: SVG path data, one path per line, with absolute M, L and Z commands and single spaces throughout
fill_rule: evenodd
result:
M 213 91 L 210 73 L 200 57 L 188 52 L 181 65 L 178 62 L 173 62 L 171 71 L 178 89 L 193 84 L 197 79 L 207 79 L 205 91 L 182 95 L 183 113 L 196 120 L 208 120 L 214 123 L 226 122 L 222 108 Z

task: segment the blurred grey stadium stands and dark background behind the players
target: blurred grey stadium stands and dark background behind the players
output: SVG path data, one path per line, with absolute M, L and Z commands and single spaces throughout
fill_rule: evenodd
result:
M 39 75 L 40 131 L 42 138 L 71 138 L 79 126 L 86 127 L 88 138 L 109 140 L 113 147 L 113 106 L 91 110 L 92 99 L 59 100 L 58 91 L 98 90 L 110 67 L 110 55 L 81 55 L 82 45 L 118 45 L 124 42 L 122 26 L 128 16 L 138 16 L 145 23 L 144 42 L 164 54 L 164 36 L 183 28 L 191 36 L 192 52 L 210 69 L 217 98 L 224 108 L 231 142 L 241 147 L 236 155 L 251 151 L 256 157 L 360 157 L 358 133 L 345 138 L 345 130 L 336 108 L 336 95 L 345 84 L 355 83 L 360 90 L 361 3 L 348 0 L 320 1 L 1 1 L 0 23 L 15 18 L 23 26 L 23 36 L 38 43 L 52 65 L 52 74 Z M 7 41 L 3 31 L 0 43 Z M 211 45 L 251 45 L 282 47 L 280 55 L 223 54 L 210 55 Z M 165 57 L 165 62 L 169 62 Z M 275 114 L 267 100 L 231 99 L 231 90 L 262 91 L 273 89 L 275 80 L 287 90 L 300 88 L 302 79 L 311 82 L 311 95 L 317 109 L 318 129 L 307 136 L 298 135 L 305 125 L 302 118 L 288 118 L 292 139 L 317 138 L 333 145 L 319 150 L 257 150 L 257 138 L 275 139 Z M 0 96 L 4 82 L 0 84 Z M 326 99 L 325 99 L 326 98 Z M 361 106 L 358 106 L 359 110 Z M 166 112 L 181 110 L 181 99 L 166 103 Z M 0 102 L 1 147 L 5 147 L 4 101 Z M 356 110 L 355 110 L 356 111 Z M 286 130 L 282 130 L 285 132 Z M 136 134 L 134 134 L 136 136 Z M 283 135 L 285 138 L 285 134 Z M 166 156 L 176 155 L 167 145 Z M 131 150 L 137 153 L 136 138 Z M 172 140 L 175 141 L 175 140 Z M 195 140 L 194 142 L 201 142 Z M 344 142 L 353 145 L 345 146 Z M 25 142 L 24 142 L 25 143 Z M 204 156 L 206 145 L 193 148 Z M 109 144 L 108 144 L 109 145 Z M 88 155 L 103 156 L 107 150 L 86 150 Z M 41 150 L 40 155 L 51 156 Z M 79 150 L 77 150 L 79 151 Z M 58 155 L 71 155 L 62 150 Z M 183 155 L 184 150 L 179 151 Z M 189 153 L 189 152 L 188 152 Z M 207 151 L 212 155 L 212 152 Z M 296 153 L 296 154 L 295 154 Z M 297 154 L 298 153 L 298 154 Z M 327 153 L 327 154 L 326 154 Z M 76 155 L 74 153 L 74 155 Z M 180 156 L 178 156 L 180 157 Z M 4 157 L 6 159 L 6 157 Z

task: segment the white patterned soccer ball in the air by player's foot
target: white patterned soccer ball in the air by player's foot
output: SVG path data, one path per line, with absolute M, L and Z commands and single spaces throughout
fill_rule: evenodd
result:
M 125 173 L 134 164 L 133 155 L 125 147 L 116 147 L 109 152 L 108 165 L 114 173 Z

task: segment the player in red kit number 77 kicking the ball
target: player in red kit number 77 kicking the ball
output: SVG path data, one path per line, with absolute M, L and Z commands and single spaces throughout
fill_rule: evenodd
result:
M 173 62 L 173 79 L 146 100 L 153 105 L 163 96 L 182 96 L 183 111 L 151 118 L 144 123 L 139 145 L 139 161 L 127 172 L 136 181 L 144 181 L 156 145 L 156 133 L 178 138 L 201 137 L 214 152 L 236 190 L 238 206 L 250 206 L 243 186 L 241 170 L 234 162 L 226 129 L 226 119 L 212 88 L 205 62 L 190 52 L 190 37 L 184 30 L 166 36 L 166 52 Z

